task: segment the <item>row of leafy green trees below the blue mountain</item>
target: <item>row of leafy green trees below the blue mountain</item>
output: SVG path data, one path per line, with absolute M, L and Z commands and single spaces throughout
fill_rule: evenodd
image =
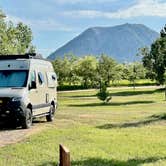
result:
M 84 88 L 97 88 L 101 84 L 109 86 L 110 82 L 116 84 L 122 79 L 134 85 L 137 79 L 145 79 L 147 75 L 141 62 L 120 64 L 105 54 L 79 58 L 66 55 L 52 63 L 60 86 L 81 84 Z

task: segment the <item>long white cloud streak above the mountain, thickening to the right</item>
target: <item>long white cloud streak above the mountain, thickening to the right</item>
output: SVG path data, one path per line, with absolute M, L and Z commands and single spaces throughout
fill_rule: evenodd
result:
M 136 4 L 127 9 L 119 9 L 116 12 L 103 12 L 98 10 L 67 11 L 65 16 L 82 18 L 131 18 L 139 16 L 166 17 L 166 2 L 161 0 L 138 0 Z

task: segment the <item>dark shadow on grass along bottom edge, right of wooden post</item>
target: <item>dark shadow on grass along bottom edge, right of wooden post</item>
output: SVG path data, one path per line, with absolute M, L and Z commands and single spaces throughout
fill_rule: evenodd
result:
M 87 160 L 82 161 L 74 161 L 72 162 L 72 166 L 139 166 L 141 164 L 154 163 L 158 160 L 165 160 L 166 158 L 157 158 L 150 157 L 146 159 L 129 159 L 127 161 L 120 160 L 107 160 L 101 158 L 89 158 Z

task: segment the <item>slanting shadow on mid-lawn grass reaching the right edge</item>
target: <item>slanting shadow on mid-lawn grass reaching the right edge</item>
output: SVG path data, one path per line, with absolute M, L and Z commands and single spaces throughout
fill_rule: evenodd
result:
M 152 115 L 145 120 L 130 122 L 130 123 L 120 123 L 120 124 L 104 124 L 102 126 L 97 126 L 99 129 L 112 129 L 112 128 L 128 128 L 128 127 L 139 127 L 143 125 L 148 125 L 154 122 L 166 120 L 166 113 L 160 115 Z

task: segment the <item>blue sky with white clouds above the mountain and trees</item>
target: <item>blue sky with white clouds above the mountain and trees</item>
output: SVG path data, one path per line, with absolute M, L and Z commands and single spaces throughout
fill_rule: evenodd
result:
M 159 32 L 166 24 L 166 0 L 1 0 L 0 9 L 31 27 L 44 57 L 89 27 L 137 23 Z

